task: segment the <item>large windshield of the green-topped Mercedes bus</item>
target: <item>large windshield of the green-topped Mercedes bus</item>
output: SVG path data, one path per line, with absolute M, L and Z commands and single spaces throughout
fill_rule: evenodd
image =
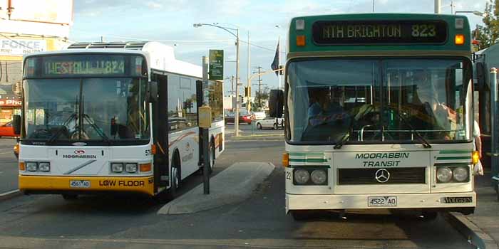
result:
M 287 70 L 290 142 L 470 139 L 462 58 L 292 60 Z

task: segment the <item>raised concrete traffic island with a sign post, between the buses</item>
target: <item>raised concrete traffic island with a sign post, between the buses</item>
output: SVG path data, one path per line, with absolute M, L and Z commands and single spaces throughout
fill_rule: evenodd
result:
M 268 162 L 238 162 L 210 179 L 210 194 L 203 194 L 202 184 L 160 208 L 158 214 L 184 214 L 205 211 L 238 203 L 249 198 L 258 184 L 272 173 Z

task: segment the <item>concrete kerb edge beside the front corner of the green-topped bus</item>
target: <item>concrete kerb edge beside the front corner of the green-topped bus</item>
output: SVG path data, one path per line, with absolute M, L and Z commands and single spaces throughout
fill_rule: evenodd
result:
M 475 225 L 464 216 L 462 213 L 445 213 L 445 218 L 451 225 L 456 228 L 461 234 L 465 235 L 468 240 L 480 249 L 498 249 L 498 244 L 493 238 L 485 233 L 481 228 Z

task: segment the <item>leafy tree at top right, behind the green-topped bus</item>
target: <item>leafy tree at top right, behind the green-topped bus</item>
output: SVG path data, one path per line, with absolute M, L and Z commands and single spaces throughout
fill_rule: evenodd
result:
M 473 31 L 473 38 L 479 41 L 479 48 L 488 48 L 499 42 L 499 0 L 488 0 L 485 4 L 485 26 L 478 25 Z

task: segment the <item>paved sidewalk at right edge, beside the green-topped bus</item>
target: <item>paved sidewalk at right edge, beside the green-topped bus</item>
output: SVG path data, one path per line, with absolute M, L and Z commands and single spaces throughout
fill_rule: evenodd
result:
M 477 205 L 475 213 L 461 216 L 485 234 L 478 234 L 485 248 L 499 248 L 499 201 L 491 185 L 490 172 L 475 176 Z M 480 233 L 480 232 L 478 232 Z

